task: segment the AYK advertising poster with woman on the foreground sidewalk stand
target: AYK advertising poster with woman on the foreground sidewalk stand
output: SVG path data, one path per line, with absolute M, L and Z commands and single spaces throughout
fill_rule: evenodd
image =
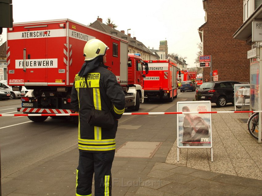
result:
M 178 148 L 212 148 L 210 101 L 177 102 Z

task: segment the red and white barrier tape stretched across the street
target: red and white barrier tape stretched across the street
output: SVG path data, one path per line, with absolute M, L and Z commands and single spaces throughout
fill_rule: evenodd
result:
M 219 113 L 256 113 L 262 111 L 211 111 L 211 112 L 137 112 L 123 115 L 159 115 L 159 114 L 219 114 Z M 0 116 L 78 116 L 78 114 L 0 114 Z

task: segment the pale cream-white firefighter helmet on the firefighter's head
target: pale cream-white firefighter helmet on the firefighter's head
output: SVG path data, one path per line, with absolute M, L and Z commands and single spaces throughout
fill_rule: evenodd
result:
M 108 46 L 99 39 L 90 39 L 84 46 L 85 61 L 91 61 L 98 56 L 104 56 Z

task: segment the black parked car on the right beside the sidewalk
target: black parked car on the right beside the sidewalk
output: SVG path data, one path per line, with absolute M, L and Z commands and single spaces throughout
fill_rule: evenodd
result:
M 216 103 L 218 107 L 224 107 L 227 103 L 234 104 L 234 84 L 241 83 L 236 81 L 204 82 L 196 90 L 195 98 L 199 101 L 209 100 L 211 103 Z

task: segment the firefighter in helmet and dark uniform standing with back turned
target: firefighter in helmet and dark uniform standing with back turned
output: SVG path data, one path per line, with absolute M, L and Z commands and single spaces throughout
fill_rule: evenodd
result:
M 76 195 L 92 195 L 94 174 L 95 195 L 111 195 L 111 167 L 115 155 L 118 119 L 125 110 L 125 94 L 116 76 L 108 70 L 106 50 L 98 39 L 84 46 L 85 62 L 72 87 L 71 104 L 79 112 L 78 148 L 79 165 L 76 170 Z M 88 88 L 88 89 L 87 89 Z M 89 126 L 87 116 L 92 107 L 111 110 L 115 124 L 112 129 Z

